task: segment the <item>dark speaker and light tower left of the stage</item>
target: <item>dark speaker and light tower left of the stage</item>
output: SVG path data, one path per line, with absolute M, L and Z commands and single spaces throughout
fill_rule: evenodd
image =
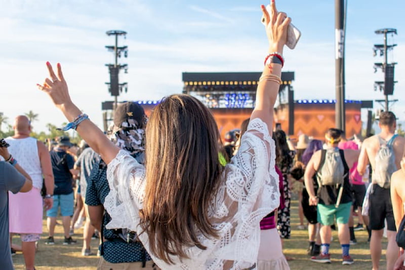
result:
M 127 32 L 121 30 L 110 30 L 107 31 L 106 34 L 108 36 L 115 36 L 115 45 L 105 46 L 109 52 L 114 53 L 115 58 L 114 64 L 105 64 L 110 72 L 110 82 L 106 82 L 105 84 L 108 85 L 108 91 L 110 92 L 111 96 L 114 97 L 113 109 L 115 110 L 119 93 L 123 92 L 123 89 L 125 92 L 128 92 L 127 82 L 119 83 L 118 79 L 119 70 L 124 69 L 125 73 L 128 73 L 128 65 L 118 63 L 118 58 L 121 56 L 124 56 L 125 58 L 128 57 L 128 46 L 118 47 L 118 36 L 124 36 L 124 38 L 126 38 Z

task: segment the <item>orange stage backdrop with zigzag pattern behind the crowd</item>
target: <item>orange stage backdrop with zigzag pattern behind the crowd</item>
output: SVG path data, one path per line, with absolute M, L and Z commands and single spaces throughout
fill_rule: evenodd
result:
M 154 105 L 142 105 L 149 116 Z M 346 103 L 346 137 L 361 132 L 359 103 Z M 221 138 L 225 133 L 234 128 L 240 128 L 241 123 L 249 118 L 252 109 L 211 109 L 217 122 Z M 274 122 L 280 123 L 281 128 L 288 133 L 288 105 L 281 105 L 274 110 Z M 294 136 L 297 138 L 305 133 L 314 139 L 323 140 L 328 128 L 335 127 L 335 104 L 294 104 Z

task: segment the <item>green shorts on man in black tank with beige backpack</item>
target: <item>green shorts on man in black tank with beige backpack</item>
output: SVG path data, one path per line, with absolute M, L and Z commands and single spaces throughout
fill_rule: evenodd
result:
M 341 203 L 338 208 L 334 204 L 325 205 L 318 204 L 318 222 L 325 226 L 331 226 L 336 222 L 339 224 L 346 224 L 349 222 L 351 202 Z

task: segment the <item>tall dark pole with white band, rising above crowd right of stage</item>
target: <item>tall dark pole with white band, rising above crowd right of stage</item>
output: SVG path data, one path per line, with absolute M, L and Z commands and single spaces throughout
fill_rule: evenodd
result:
M 335 121 L 336 127 L 345 131 L 345 30 L 344 3 L 335 0 Z

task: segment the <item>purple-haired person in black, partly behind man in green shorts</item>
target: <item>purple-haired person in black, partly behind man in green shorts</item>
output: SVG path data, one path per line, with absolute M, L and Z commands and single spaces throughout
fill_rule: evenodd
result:
M 304 170 L 308 165 L 309 160 L 311 159 L 312 155 L 317 152 L 318 150 L 322 150 L 322 142 L 320 140 L 311 140 L 308 147 L 305 149 L 304 153 L 302 154 L 302 163 L 304 164 Z M 314 194 L 318 192 L 318 183 L 316 181 L 316 175 L 312 177 L 312 184 L 314 187 Z M 308 191 L 304 185 L 302 189 L 302 210 L 304 212 L 305 218 L 308 220 L 308 239 L 309 239 L 309 247 L 307 249 L 307 253 L 310 256 L 317 256 L 320 253 L 320 235 L 319 235 L 319 222 L 318 222 L 318 211 L 316 210 L 316 206 L 309 205 L 309 195 Z

